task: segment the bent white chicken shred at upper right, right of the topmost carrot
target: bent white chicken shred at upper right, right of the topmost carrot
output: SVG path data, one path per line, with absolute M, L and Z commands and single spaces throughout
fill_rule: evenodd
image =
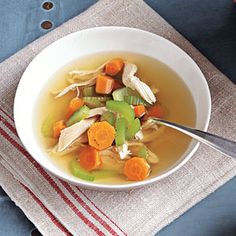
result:
M 126 87 L 136 89 L 141 97 L 152 104 L 156 102 L 156 97 L 153 94 L 151 88 L 142 82 L 135 73 L 137 72 L 137 66 L 132 63 L 125 63 L 124 71 L 122 74 L 122 82 Z

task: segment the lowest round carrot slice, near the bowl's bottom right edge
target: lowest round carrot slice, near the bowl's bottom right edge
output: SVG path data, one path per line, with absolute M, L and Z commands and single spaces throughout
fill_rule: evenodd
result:
M 150 173 L 150 166 L 142 157 L 132 157 L 124 165 L 124 174 L 128 180 L 144 180 Z

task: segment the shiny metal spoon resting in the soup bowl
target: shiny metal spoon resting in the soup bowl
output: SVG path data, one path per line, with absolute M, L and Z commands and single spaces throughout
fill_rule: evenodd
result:
M 217 135 L 210 134 L 201 130 L 179 125 L 170 121 L 166 121 L 166 120 L 162 120 L 158 118 L 152 118 L 152 120 L 156 122 L 158 125 L 165 125 L 173 129 L 176 129 L 184 134 L 187 134 L 190 137 L 200 141 L 201 143 L 204 143 L 216 149 L 217 151 L 220 151 L 226 156 L 236 158 L 236 142 L 234 141 L 231 141 L 231 140 L 228 140 L 228 139 L 225 139 L 225 138 L 222 138 Z

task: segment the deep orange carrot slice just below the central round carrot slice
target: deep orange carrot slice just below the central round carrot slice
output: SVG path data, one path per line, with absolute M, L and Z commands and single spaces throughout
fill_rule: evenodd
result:
M 80 151 L 79 162 L 87 171 L 95 170 L 102 164 L 98 151 L 93 147 L 85 147 Z

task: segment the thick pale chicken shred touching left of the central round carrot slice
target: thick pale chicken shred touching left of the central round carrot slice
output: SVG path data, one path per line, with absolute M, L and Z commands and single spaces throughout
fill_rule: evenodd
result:
M 81 120 L 74 125 L 65 128 L 61 131 L 61 135 L 58 142 L 58 152 L 65 150 L 69 147 L 77 138 L 79 138 L 95 121 L 97 117 Z

